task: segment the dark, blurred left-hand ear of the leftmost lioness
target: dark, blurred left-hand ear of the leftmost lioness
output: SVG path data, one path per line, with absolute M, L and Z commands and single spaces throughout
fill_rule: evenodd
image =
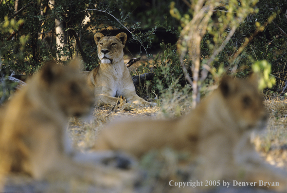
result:
M 46 83 L 51 84 L 57 77 L 61 76 L 62 69 L 60 68 L 60 66 L 57 66 L 57 64 L 55 64 L 54 62 L 48 62 L 43 66 L 40 73 L 42 79 Z

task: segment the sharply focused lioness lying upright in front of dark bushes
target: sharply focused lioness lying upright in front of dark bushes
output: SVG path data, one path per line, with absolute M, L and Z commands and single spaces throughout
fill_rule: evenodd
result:
M 133 103 L 142 106 L 155 106 L 136 94 L 133 81 L 124 63 L 126 33 L 104 37 L 101 33 L 94 35 L 101 64 L 88 75 L 88 85 L 94 90 L 96 105 Z M 120 98 L 126 98 L 126 102 Z

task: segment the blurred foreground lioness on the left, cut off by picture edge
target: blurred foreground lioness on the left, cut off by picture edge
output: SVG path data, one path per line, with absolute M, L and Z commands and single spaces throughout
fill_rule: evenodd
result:
M 46 64 L 0 110 L 0 186 L 10 172 L 26 173 L 36 180 L 121 183 L 126 174 L 108 174 L 94 164 L 93 154 L 73 152 L 64 131 L 67 116 L 87 114 L 94 105 L 93 93 L 78 63 L 74 60 L 68 67 Z

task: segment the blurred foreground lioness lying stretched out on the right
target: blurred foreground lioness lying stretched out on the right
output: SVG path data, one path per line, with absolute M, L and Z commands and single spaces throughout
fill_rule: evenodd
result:
M 222 77 L 213 94 L 179 119 L 112 123 L 99 134 L 95 149 L 140 157 L 170 146 L 197 154 L 196 180 L 240 180 L 257 186 L 259 180 L 279 182 L 272 188 L 287 192 L 287 173 L 264 163 L 250 141 L 250 132 L 264 128 L 267 119 L 255 77 Z

